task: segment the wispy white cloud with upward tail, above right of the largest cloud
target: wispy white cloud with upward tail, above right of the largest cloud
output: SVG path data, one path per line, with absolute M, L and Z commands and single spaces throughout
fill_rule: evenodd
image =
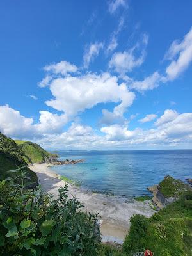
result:
M 143 35 L 143 40 L 140 44 L 134 45 L 131 49 L 124 52 L 115 52 L 109 61 L 109 68 L 116 72 L 125 75 L 126 72 L 131 72 L 133 68 L 140 67 L 145 60 L 145 47 L 148 44 L 148 36 Z M 140 56 L 136 56 L 136 51 L 141 49 Z

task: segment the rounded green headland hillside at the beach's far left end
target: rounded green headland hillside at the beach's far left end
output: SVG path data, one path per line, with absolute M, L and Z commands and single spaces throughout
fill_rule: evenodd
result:
M 49 153 L 36 143 L 22 140 L 15 140 L 15 142 L 22 150 L 27 163 L 45 163 L 45 160 L 49 158 Z

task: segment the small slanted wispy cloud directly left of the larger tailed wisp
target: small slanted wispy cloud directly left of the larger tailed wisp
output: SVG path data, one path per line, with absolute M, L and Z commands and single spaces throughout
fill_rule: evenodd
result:
M 95 44 L 90 44 L 89 47 L 86 48 L 83 56 L 83 66 L 84 68 L 88 68 L 90 62 L 93 61 L 99 55 L 100 50 L 102 50 L 104 44 L 102 42 L 95 42 Z

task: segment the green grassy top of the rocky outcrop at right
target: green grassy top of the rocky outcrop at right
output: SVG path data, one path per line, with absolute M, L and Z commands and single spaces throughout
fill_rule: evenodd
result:
M 159 191 L 164 195 L 164 197 L 178 197 L 185 191 L 191 190 L 190 186 L 181 180 L 173 179 L 171 176 L 166 176 L 159 183 Z

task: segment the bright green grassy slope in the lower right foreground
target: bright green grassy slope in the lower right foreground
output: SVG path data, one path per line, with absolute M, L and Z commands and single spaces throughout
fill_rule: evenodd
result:
M 124 252 L 136 248 L 150 248 L 156 256 L 192 255 L 192 192 L 147 219 L 131 218 L 129 235 L 124 241 Z

